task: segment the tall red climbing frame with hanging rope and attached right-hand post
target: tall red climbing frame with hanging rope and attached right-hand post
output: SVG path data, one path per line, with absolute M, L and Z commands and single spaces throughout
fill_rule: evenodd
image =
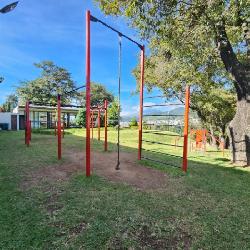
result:
M 117 29 L 111 27 L 107 23 L 99 20 L 98 18 L 92 16 L 90 11 L 86 12 L 86 176 L 90 176 L 90 124 L 91 124 L 91 108 L 90 108 L 90 67 L 91 67 L 91 57 L 90 57 L 90 33 L 91 33 L 91 22 L 99 23 L 103 25 L 105 28 L 115 32 L 118 35 L 118 137 L 117 137 L 117 164 L 116 169 L 119 169 L 120 166 L 120 93 L 121 93 L 121 58 L 122 58 L 122 38 L 125 38 L 138 46 L 141 52 L 140 56 L 140 108 L 139 108 L 139 134 L 138 134 L 138 160 L 147 159 L 153 160 L 147 157 L 142 156 L 142 142 L 146 142 L 143 140 L 143 95 L 144 95 L 144 65 L 145 65 L 145 48 L 142 44 L 134 41 L 130 37 L 124 35 L 122 32 Z M 186 87 L 185 94 L 185 114 L 184 118 L 184 126 L 183 126 L 183 162 L 182 169 L 183 171 L 187 171 L 187 149 L 188 149 L 188 121 L 189 121 L 189 102 L 190 102 L 190 87 Z M 170 106 L 176 104 L 162 104 L 160 106 Z M 157 143 L 157 142 L 154 142 Z

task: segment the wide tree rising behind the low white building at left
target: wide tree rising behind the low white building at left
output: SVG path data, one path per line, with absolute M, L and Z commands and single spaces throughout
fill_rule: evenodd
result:
M 40 77 L 32 81 L 22 82 L 17 88 L 17 94 L 22 103 L 26 100 L 39 103 L 57 103 L 57 94 L 61 94 L 64 104 L 69 104 L 76 93 L 68 92 L 75 88 L 75 83 L 71 79 L 70 73 L 51 61 L 43 61 L 35 64 L 41 69 Z

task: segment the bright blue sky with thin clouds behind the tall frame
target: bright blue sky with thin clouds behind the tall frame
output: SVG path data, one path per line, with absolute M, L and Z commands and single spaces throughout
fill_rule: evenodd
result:
M 0 7 L 10 3 L 0 0 Z M 106 17 L 90 0 L 20 0 L 17 8 L 0 15 L 0 104 L 20 81 L 39 75 L 33 63 L 52 60 L 67 68 L 77 85 L 85 81 L 85 11 L 104 20 L 133 39 L 136 31 L 121 18 Z M 117 95 L 118 37 L 100 24 L 91 24 L 91 80 Z M 136 45 L 123 39 L 122 115 L 137 113 L 139 97 L 131 74 L 139 59 Z

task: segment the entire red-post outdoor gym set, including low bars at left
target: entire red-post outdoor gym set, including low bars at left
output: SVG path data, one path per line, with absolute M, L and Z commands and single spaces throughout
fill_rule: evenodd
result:
M 105 28 L 108 28 L 112 32 L 115 32 L 118 35 L 118 48 L 119 48 L 119 54 L 118 54 L 118 133 L 117 133 L 117 163 L 116 163 L 116 170 L 120 169 L 120 95 L 121 95 L 121 62 L 122 62 L 122 38 L 127 39 L 132 44 L 136 45 L 140 50 L 140 108 L 139 108 L 139 133 L 138 133 L 138 160 L 141 159 L 147 159 L 147 160 L 153 160 L 147 157 L 142 156 L 142 142 L 146 142 L 143 140 L 143 108 L 149 107 L 149 106 L 143 106 L 143 95 L 144 95 L 144 64 L 145 64 L 145 48 L 144 45 L 141 45 L 140 43 L 136 42 L 132 38 L 126 36 L 122 32 L 118 31 L 117 29 L 111 27 L 107 23 L 99 20 L 98 18 L 92 16 L 90 14 L 90 11 L 86 11 L 86 85 L 84 86 L 86 88 L 86 176 L 91 175 L 91 128 L 93 131 L 93 115 L 94 112 L 101 112 L 103 111 L 102 108 L 92 107 L 91 108 L 91 75 L 90 75 L 90 69 L 91 69 L 91 54 L 90 54 L 90 46 L 91 46 L 91 22 L 98 23 L 103 25 Z M 187 171 L 187 146 L 188 146 L 188 119 L 189 119 L 189 99 L 190 99 L 190 88 L 186 87 L 186 98 L 185 98 L 185 114 L 184 114 L 184 130 L 183 130 L 183 137 L 184 137 L 184 143 L 183 143 L 183 159 L 182 159 L 182 169 L 183 171 Z M 162 104 L 158 106 L 171 106 L 176 104 Z M 106 109 L 105 109 L 106 107 Z M 57 100 L 57 115 L 58 115 L 58 123 L 57 123 L 57 135 L 58 135 L 58 159 L 61 159 L 61 97 L 58 95 Z M 29 107 L 27 107 L 27 116 L 26 116 L 26 144 L 29 145 L 30 141 L 30 134 L 31 134 L 31 126 L 29 122 Z M 104 110 L 107 112 L 107 103 L 104 105 Z M 105 115 L 105 150 L 107 150 L 107 115 Z M 92 132 L 93 133 L 93 132 Z M 99 133 L 99 132 L 98 132 Z M 98 136 L 99 138 L 99 136 Z M 153 142 L 150 142 L 153 143 Z M 157 143 L 157 142 L 154 142 Z M 167 165 L 166 163 L 164 163 Z M 180 167 L 180 166 L 179 166 Z

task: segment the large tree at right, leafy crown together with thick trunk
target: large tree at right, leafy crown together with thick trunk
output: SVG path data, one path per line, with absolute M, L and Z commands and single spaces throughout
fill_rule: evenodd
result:
M 154 70 L 169 83 L 178 80 L 203 89 L 201 83 L 237 95 L 236 114 L 229 125 L 233 162 L 250 165 L 250 63 L 248 1 L 233 0 L 99 0 L 106 14 L 123 15 L 149 40 L 162 65 Z M 160 66 L 160 67 L 159 67 Z M 166 79 L 166 78 L 165 78 Z M 205 81 L 204 81 L 205 80 Z M 161 86 L 163 82 L 157 83 Z

